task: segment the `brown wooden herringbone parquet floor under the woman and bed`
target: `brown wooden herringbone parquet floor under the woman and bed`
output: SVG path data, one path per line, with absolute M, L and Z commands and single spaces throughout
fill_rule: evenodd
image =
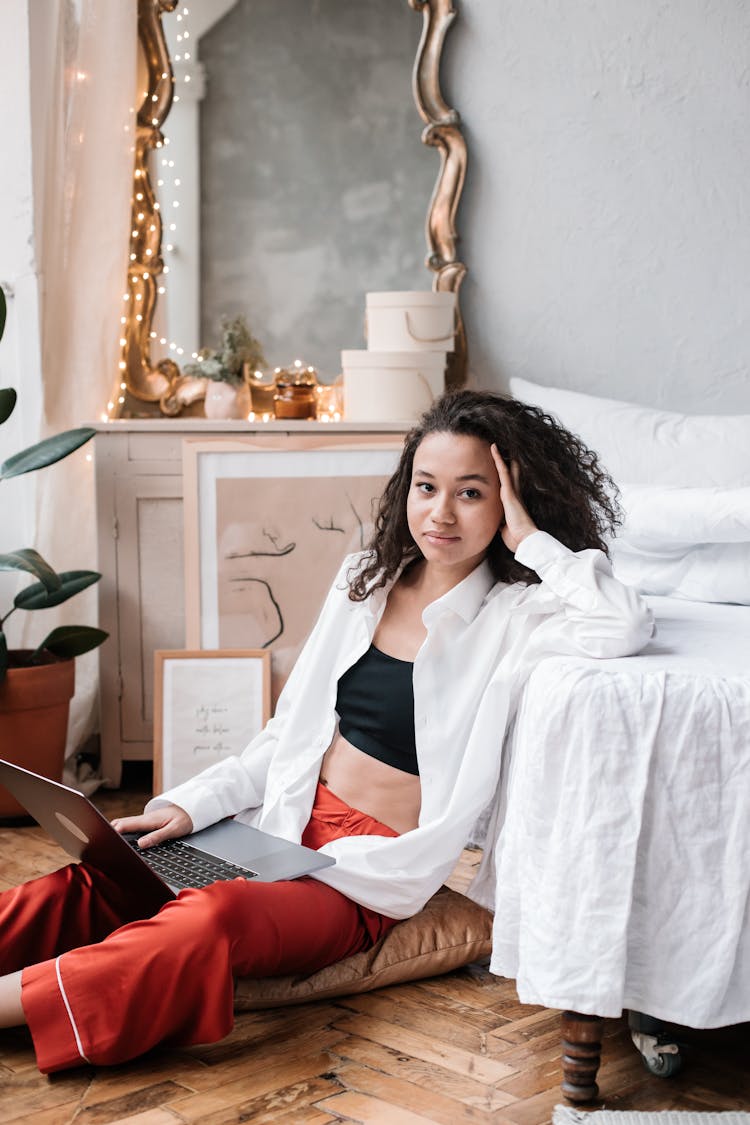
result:
M 136 811 L 143 776 L 101 793 Z M 476 853 L 452 884 L 466 885 Z M 0 830 L 0 889 L 51 871 L 62 853 L 38 828 Z M 605 1023 L 602 1101 L 620 1109 L 748 1109 L 750 1026 L 683 1030 L 685 1065 L 649 1076 L 625 1020 Z M 544 1125 L 563 1099 L 559 1014 L 518 1004 L 478 965 L 449 976 L 237 1017 L 223 1043 L 163 1050 L 123 1066 L 45 1078 L 25 1029 L 0 1032 L 0 1122 L 26 1125 L 323 1125 L 439 1122 Z

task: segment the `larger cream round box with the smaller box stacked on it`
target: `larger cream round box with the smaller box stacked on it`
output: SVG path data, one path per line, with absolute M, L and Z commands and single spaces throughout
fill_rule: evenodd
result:
M 346 422 L 416 422 L 445 389 L 445 352 L 343 351 Z

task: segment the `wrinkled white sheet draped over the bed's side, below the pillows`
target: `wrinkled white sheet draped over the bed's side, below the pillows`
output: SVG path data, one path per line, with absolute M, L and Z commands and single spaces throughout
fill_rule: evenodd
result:
M 750 608 L 648 601 L 643 654 L 524 690 L 490 969 L 528 1004 L 724 1026 L 750 1019 Z

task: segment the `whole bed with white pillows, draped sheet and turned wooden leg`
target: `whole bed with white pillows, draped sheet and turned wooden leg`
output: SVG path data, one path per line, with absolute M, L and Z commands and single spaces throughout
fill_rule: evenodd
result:
M 563 1090 L 582 1101 L 597 1095 L 599 1017 L 629 1009 L 696 1028 L 750 1020 L 750 604 L 738 604 L 750 602 L 750 418 L 722 420 L 737 425 L 734 451 L 713 420 L 724 456 L 712 460 L 704 429 L 690 477 L 679 462 L 692 442 L 681 451 L 663 423 L 677 415 L 611 404 L 625 422 L 640 412 L 649 443 L 614 425 L 606 400 L 550 392 L 551 405 L 548 388 L 519 384 L 517 397 L 554 411 L 593 448 L 604 441 L 598 425 L 618 436 L 605 462 L 618 483 L 639 451 L 643 478 L 622 486 L 615 573 L 620 551 L 621 577 L 670 595 L 648 597 L 657 631 L 639 656 L 554 657 L 535 669 L 488 838 L 490 969 L 516 980 L 522 1001 L 566 1010 Z M 589 400 L 572 403 L 579 416 L 570 398 Z M 726 593 L 735 604 L 721 601 Z

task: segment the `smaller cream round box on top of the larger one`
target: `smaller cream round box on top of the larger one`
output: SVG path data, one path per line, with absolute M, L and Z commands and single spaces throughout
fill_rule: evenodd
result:
M 369 292 L 365 304 L 370 351 L 453 351 L 454 292 Z

